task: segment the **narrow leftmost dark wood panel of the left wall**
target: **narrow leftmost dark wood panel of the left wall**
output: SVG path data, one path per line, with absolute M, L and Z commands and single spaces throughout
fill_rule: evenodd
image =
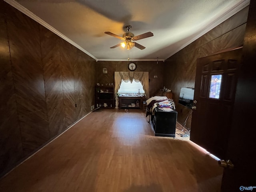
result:
M 1 73 L 6 72 L 6 74 L 2 74 L 3 76 L 0 77 L 0 81 L 1 81 L 0 88 L 2 91 L 4 91 L 3 93 L 1 93 L 1 106 L 0 106 L 0 113 L 4 113 L 4 114 L 1 114 L 2 119 L 0 122 L 0 132 L 2 135 L 0 137 L 1 138 L 0 146 L 3 147 L 1 148 L 1 153 L 0 153 L 0 161 L 1 161 L 0 176 L 5 174 L 6 171 L 10 170 L 12 166 L 15 165 L 16 161 L 19 158 L 22 158 L 24 156 L 24 153 L 22 151 L 23 146 L 21 141 L 20 124 L 18 121 L 17 98 L 15 94 L 14 75 L 13 75 L 12 60 L 11 60 L 11 54 L 10 54 L 10 41 L 9 41 L 5 6 L 6 5 L 4 4 L 4 2 L 1 1 L 0 2 L 0 17 L 1 17 L 0 31 L 1 30 L 2 31 L 0 33 L 3 36 L 0 36 L 0 40 L 3 41 L 3 43 L 0 42 L 0 44 L 3 49 L 1 50 L 0 68 L 1 68 Z M 5 48 L 7 49 L 5 50 Z M 5 110 L 4 106 L 8 107 L 8 109 Z M 8 122 L 9 124 L 7 124 Z M 10 144 L 10 141 L 12 140 L 15 140 L 15 141 Z M 4 159 L 5 158 L 4 155 L 8 156 L 8 159 Z

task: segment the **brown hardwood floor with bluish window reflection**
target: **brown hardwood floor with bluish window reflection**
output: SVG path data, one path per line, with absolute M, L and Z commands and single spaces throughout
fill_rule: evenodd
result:
M 1 192 L 218 192 L 222 168 L 144 111 L 92 112 L 0 180 Z

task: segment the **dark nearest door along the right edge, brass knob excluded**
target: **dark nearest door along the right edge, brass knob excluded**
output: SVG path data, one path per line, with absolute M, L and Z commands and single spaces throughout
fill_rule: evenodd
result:
M 256 192 L 256 1 L 250 1 L 242 63 L 239 70 L 222 192 Z

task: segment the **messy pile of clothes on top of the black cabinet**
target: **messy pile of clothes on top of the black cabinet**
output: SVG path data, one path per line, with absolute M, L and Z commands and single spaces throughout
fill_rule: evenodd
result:
M 146 100 L 147 110 L 146 117 L 148 115 L 154 115 L 154 108 L 158 107 L 160 110 L 172 111 L 175 110 L 174 101 L 166 96 L 154 96 Z

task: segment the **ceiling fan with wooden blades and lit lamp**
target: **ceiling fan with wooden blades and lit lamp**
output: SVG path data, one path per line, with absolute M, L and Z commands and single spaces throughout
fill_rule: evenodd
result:
M 134 36 L 134 34 L 130 32 L 130 29 L 132 28 L 132 26 L 128 25 L 128 26 L 125 26 L 125 28 L 127 29 L 128 32 L 124 33 L 122 37 L 118 36 L 118 35 L 116 35 L 116 34 L 114 34 L 112 32 L 109 32 L 109 31 L 104 32 L 104 33 L 106 33 L 108 35 L 111 35 L 111 36 L 113 36 L 115 38 L 118 38 L 118 39 L 121 39 L 121 40 L 124 41 L 122 43 L 119 43 L 119 44 L 117 44 L 115 46 L 110 47 L 111 49 L 112 48 L 116 48 L 116 47 L 121 45 L 123 48 L 125 46 L 127 46 L 127 50 L 130 50 L 134 46 L 142 50 L 142 49 L 144 49 L 146 47 L 144 47 L 144 46 L 142 46 L 142 45 L 140 45 L 140 44 L 138 44 L 136 42 L 132 42 L 132 41 L 136 41 L 136 40 L 140 40 L 140 39 L 144 39 L 144 38 L 148 38 L 148 37 L 154 36 L 154 34 L 152 32 L 146 32 L 146 33 Z

